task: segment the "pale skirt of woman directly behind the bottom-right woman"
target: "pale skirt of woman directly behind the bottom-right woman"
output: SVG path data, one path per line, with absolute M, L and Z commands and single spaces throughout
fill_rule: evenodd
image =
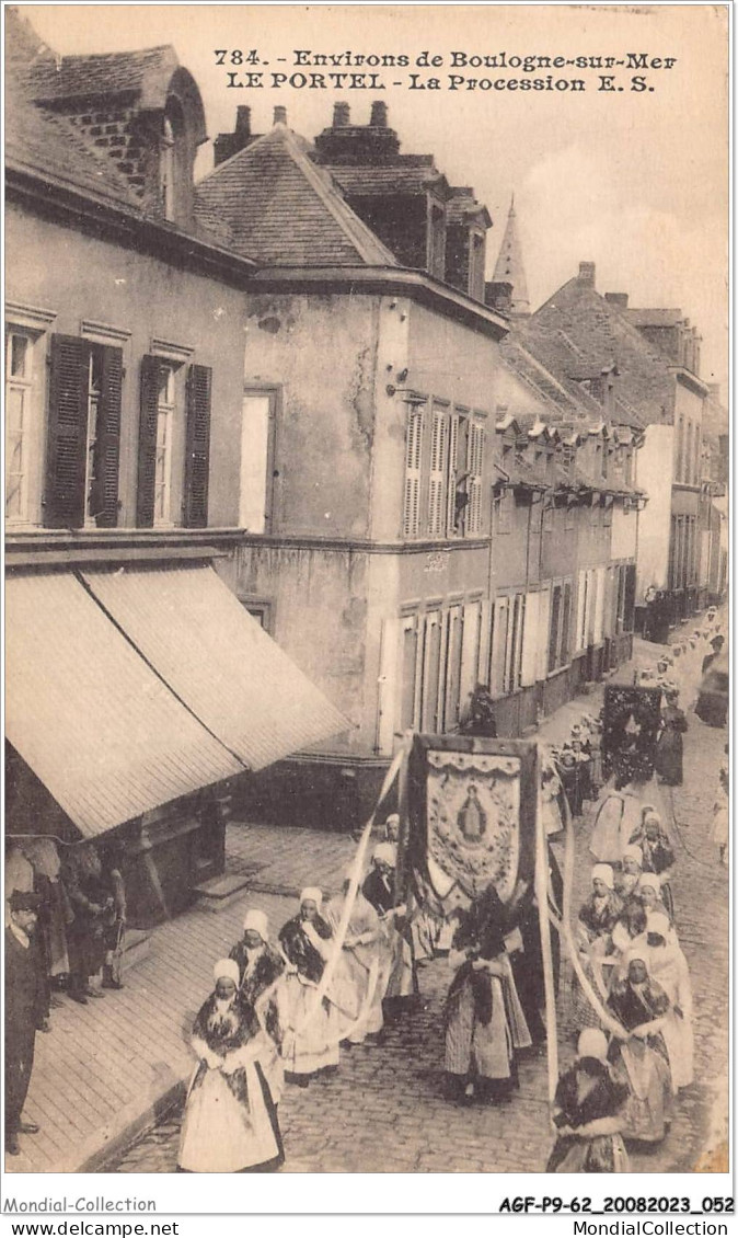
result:
M 661 1143 L 674 1115 L 671 1071 L 664 1042 L 658 1040 L 659 1049 L 635 1039 L 618 1045 L 613 1066 L 615 1080 L 629 1091 L 623 1135 L 648 1144 Z

